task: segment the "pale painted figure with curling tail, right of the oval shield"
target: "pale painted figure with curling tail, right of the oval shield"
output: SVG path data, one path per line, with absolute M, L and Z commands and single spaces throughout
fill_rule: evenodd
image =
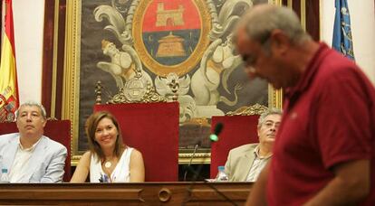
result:
M 197 103 L 199 117 L 224 115 L 221 110 L 216 108 L 218 102 L 223 102 L 228 106 L 236 105 L 236 91 L 242 89 L 240 84 L 235 86 L 235 99 L 232 101 L 220 95 L 217 90 L 220 83 L 222 83 L 226 92 L 231 94 L 229 89 L 227 89 L 227 80 L 231 72 L 241 63 L 240 57 L 235 56 L 233 50 L 231 35 L 229 35 L 226 42 L 222 42 L 221 39 L 216 39 L 216 41 L 212 42 L 203 55 L 200 67 L 191 80 L 191 90 Z M 223 75 L 220 78 L 220 73 L 222 72 Z M 201 112 L 199 111 L 202 110 L 205 110 L 205 114 L 200 114 Z

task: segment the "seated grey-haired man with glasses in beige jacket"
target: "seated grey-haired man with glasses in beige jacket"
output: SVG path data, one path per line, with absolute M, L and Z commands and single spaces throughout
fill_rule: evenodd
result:
M 259 144 L 238 146 L 229 151 L 225 172 L 232 182 L 255 182 L 264 165 L 272 156 L 274 136 L 280 125 L 282 113 L 269 109 L 258 119 Z

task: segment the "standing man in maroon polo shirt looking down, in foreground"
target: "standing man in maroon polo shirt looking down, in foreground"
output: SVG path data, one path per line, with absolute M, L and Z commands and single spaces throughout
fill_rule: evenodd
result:
M 375 89 L 354 62 L 303 32 L 286 7 L 238 24 L 245 71 L 285 91 L 274 157 L 248 205 L 375 204 Z

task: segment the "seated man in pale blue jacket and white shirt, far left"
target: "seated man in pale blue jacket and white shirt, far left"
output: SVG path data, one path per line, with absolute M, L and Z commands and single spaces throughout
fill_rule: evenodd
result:
M 43 136 L 45 109 L 26 102 L 16 111 L 19 133 L 0 136 L 0 169 L 10 183 L 61 183 L 67 149 Z

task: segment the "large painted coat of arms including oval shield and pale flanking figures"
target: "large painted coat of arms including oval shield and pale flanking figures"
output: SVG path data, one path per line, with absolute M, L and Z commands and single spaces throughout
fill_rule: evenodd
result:
M 112 0 L 112 5 L 99 5 L 95 20 L 107 19 L 104 29 L 121 45 L 102 40 L 111 62 L 99 61 L 97 67 L 110 72 L 119 90 L 135 99 L 147 85 L 168 98 L 168 85 L 177 82 L 181 123 L 224 115 L 217 104 L 236 106 L 244 86 L 230 82 L 241 64 L 232 31 L 251 5 L 245 0 Z

